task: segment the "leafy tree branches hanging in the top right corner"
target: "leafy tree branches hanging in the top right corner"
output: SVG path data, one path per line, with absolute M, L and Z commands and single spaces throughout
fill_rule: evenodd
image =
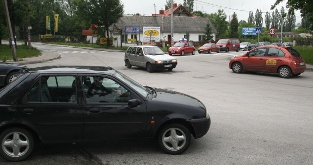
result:
M 276 2 L 271 6 L 273 10 L 276 5 L 281 3 L 284 0 L 276 0 Z M 289 8 L 289 14 L 294 14 L 295 10 L 300 10 L 301 16 L 304 17 L 307 15 L 308 20 L 311 21 L 310 28 L 313 30 L 313 0 L 287 0 L 286 8 Z

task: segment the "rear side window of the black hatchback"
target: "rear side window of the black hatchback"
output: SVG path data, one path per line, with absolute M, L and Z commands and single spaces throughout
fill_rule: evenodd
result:
M 27 92 L 28 102 L 77 103 L 74 76 L 43 76 Z

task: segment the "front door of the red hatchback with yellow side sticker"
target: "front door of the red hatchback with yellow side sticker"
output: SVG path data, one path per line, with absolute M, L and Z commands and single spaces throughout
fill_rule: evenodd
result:
M 243 68 L 245 71 L 262 71 L 264 70 L 264 56 L 266 48 L 253 50 L 248 57 L 244 59 Z

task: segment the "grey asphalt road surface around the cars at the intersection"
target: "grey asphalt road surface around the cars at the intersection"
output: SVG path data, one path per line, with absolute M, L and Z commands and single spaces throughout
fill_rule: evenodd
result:
M 153 140 L 38 146 L 17 164 L 103 165 L 312 165 L 313 72 L 282 79 L 261 73 L 234 74 L 231 56 L 243 52 L 175 56 L 173 71 L 128 69 L 124 54 L 38 45 L 61 59 L 29 64 L 110 65 L 135 81 L 200 99 L 212 119 L 209 132 L 181 155 L 163 153 Z M 0 158 L 0 164 L 9 164 Z

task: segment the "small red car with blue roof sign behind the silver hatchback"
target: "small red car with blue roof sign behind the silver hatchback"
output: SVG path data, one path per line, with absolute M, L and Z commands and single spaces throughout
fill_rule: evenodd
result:
M 196 48 L 192 42 L 189 41 L 179 41 L 168 49 L 168 54 L 179 54 L 181 56 L 185 54 L 196 54 Z

